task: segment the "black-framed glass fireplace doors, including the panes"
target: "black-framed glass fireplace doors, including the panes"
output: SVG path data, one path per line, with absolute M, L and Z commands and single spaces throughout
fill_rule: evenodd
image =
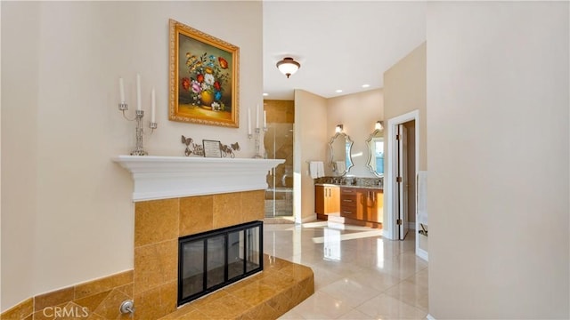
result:
M 178 305 L 263 269 L 263 223 L 179 238 Z

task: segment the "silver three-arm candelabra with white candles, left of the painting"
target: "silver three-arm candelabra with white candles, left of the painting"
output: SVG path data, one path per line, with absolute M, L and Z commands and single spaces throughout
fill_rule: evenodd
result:
M 125 84 L 123 82 L 123 78 L 120 77 L 118 79 L 118 90 L 120 93 L 120 102 L 118 103 L 118 110 L 123 112 L 123 117 L 125 117 L 128 121 L 135 121 L 136 120 L 136 147 L 131 152 L 131 156 L 146 156 L 149 153 L 144 150 L 142 147 L 142 137 L 144 136 L 144 130 L 142 125 L 142 117 L 144 116 L 144 111 L 142 110 L 142 101 L 141 101 L 141 75 L 136 74 L 136 110 L 134 114 L 134 118 L 129 118 L 126 116 L 125 111 L 128 110 L 128 105 L 126 104 L 125 100 Z M 151 123 L 149 124 L 151 128 L 151 133 L 154 132 L 154 129 L 158 127 L 156 123 L 156 93 L 154 88 L 152 88 L 151 92 Z

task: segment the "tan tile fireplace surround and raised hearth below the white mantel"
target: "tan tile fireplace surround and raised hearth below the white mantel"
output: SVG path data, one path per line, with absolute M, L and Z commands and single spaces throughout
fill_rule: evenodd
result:
M 176 310 L 178 237 L 263 220 L 264 197 L 256 190 L 137 203 L 135 318 L 271 319 L 313 294 L 310 268 L 265 256 L 261 274 Z

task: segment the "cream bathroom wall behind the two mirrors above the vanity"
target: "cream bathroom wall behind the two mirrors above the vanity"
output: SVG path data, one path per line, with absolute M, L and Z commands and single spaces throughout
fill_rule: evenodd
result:
M 368 163 L 369 149 L 366 140 L 374 132 L 374 124 L 383 120 L 384 97 L 381 89 L 346 94 L 344 96 L 327 100 L 327 161 L 330 160 L 330 148 L 328 143 L 335 135 L 337 124 L 343 124 L 345 132 L 354 141 L 352 159 L 354 167 L 348 175 L 356 177 L 376 177 L 366 166 Z M 325 166 L 326 173 L 333 175 L 329 165 Z

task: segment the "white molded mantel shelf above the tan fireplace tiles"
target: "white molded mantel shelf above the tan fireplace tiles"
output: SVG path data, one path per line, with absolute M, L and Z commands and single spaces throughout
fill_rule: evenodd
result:
M 267 173 L 283 159 L 116 156 L 131 172 L 133 201 L 204 196 L 267 188 Z

